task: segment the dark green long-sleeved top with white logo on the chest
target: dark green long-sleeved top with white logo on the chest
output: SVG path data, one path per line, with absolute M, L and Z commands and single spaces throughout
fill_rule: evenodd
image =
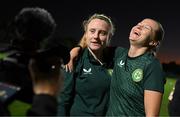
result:
M 85 49 L 74 72 L 65 72 L 58 115 L 104 116 L 108 108 L 111 81 L 108 68 L 107 63 L 100 65 Z

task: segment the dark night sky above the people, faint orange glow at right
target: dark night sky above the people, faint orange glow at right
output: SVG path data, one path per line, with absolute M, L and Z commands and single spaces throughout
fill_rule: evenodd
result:
M 4 2 L 3 2 L 4 1 Z M 80 2 L 80 1 L 79 1 Z M 121 3 L 122 2 L 122 3 Z M 0 22 L 10 21 L 23 7 L 39 6 L 48 10 L 56 20 L 61 37 L 79 40 L 83 34 L 82 22 L 94 13 L 112 18 L 116 32 L 112 45 L 129 47 L 132 26 L 144 18 L 153 18 L 163 25 L 165 38 L 159 50 L 161 62 L 176 61 L 180 64 L 180 4 L 158 0 L 1 0 Z

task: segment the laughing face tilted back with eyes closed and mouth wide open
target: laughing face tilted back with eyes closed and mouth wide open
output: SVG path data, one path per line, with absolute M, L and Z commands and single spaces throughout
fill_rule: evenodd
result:
M 129 39 L 131 45 L 149 46 L 155 38 L 158 24 L 152 19 L 144 19 L 131 29 Z

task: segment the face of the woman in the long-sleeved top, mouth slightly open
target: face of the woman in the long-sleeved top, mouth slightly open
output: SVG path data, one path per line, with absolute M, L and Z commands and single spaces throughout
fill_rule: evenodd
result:
M 92 51 L 102 50 L 110 38 L 110 25 L 101 19 L 93 19 L 85 33 L 87 45 Z

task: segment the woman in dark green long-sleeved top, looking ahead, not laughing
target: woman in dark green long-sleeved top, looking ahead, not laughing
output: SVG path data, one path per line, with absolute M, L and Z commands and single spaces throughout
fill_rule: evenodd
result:
M 110 62 L 104 49 L 114 34 L 114 26 L 104 14 L 94 14 L 84 21 L 87 47 L 80 54 L 75 70 L 65 72 L 59 95 L 59 116 L 104 116 L 109 104 Z M 110 61 L 110 60 L 109 60 Z

